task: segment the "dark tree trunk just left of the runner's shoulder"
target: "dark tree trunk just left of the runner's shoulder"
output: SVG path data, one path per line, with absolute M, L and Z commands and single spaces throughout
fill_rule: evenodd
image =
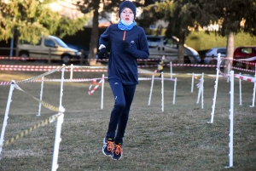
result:
M 90 49 L 88 59 L 90 60 L 90 66 L 96 65 L 96 54 L 98 48 L 98 39 L 99 39 L 99 12 L 98 9 L 94 10 L 93 19 L 92 19 L 92 30 L 90 36 Z

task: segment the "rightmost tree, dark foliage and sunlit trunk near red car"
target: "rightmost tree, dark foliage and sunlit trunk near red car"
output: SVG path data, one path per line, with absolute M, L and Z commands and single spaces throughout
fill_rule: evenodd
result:
M 254 0 L 205 0 L 203 9 L 212 19 L 223 20 L 221 35 L 227 36 L 227 57 L 233 59 L 234 42 L 237 32 L 256 35 L 256 3 Z M 226 66 L 229 65 L 226 60 Z M 230 63 L 230 66 L 232 63 Z M 225 69 L 227 73 L 227 69 Z

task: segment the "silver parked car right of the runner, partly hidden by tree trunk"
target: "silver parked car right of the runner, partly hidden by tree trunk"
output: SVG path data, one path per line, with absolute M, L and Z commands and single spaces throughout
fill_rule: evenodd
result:
M 159 58 L 166 55 L 166 61 L 177 62 L 177 48 L 179 39 L 177 37 L 167 38 L 163 36 L 147 35 L 149 58 Z M 195 49 L 184 44 L 184 63 L 200 63 L 201 58 Z

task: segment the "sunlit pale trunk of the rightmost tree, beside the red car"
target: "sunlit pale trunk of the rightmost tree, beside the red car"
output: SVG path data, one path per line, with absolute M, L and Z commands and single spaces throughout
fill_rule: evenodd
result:
M 230 64 L 230 71 L 231 71 L 231 67 L 232 67 L 232 61 L 234 58 L 234 32 L 230 32 L 228 34 L 228 38 L 227 38 L 227 51 L 226 51 L 226 58 L 230 58 L 232 60 L 225 60 L 225 69 L 224 69 L 224 73 L 225 74 L 229 74 L 228 73 L 228 66 Z

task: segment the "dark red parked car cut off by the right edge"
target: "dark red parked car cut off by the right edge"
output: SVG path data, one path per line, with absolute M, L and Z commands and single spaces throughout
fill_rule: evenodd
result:
M 234 52 L 233 66 L 246 67 L 246 64 L 241 63 L 236 60 L 247 59 L 247 58 L 252 58 L 252 57 L 256 57 L 256 46 L 237 47 Z M 252 60 L 252 61 L 248 61 L 248 62 L 256 63 L 256 60 Z M 252 65 L 249 65 L 249 66 L 254 68 L 254 66 L 252 66 Z

